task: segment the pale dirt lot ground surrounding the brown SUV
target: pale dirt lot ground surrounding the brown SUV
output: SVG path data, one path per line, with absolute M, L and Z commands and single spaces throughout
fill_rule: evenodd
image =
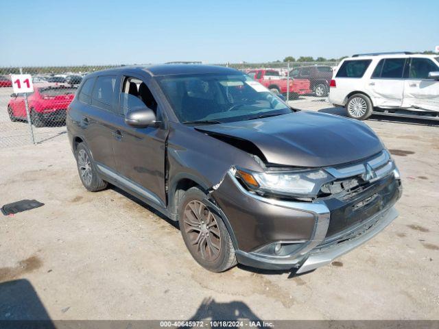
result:
M 312 97 L 294 105 L 343 113 Z M 367 123 L 401 170 L 400 216 L 332 265 L 293 278 L 205 271 L 172 223 L 116 188 L 87 192 L 66 134 L 1 149 L 0 204 L 45 206 L 0 217 L 0 319 L 438 319 L 438 127 Z

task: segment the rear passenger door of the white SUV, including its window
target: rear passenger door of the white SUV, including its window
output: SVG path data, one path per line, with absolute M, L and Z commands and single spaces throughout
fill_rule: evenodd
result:
M 383 58 L 366 81 L 366 92 L 375 106 L 400 107 L 403 104 L 403 73 L 407 58 Z

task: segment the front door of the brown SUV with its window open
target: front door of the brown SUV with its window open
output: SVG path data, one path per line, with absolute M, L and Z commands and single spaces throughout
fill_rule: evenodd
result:
M 127 125 L 124 115 L 133 108 L 148 107 L 161 117 L 160 108 L 142 77 L 122 77 L 119 124 L 115 129 L 113 149 L 117 171 L 133 191 L 165 206 L 165 140 L 161 125 L 135 128 Z

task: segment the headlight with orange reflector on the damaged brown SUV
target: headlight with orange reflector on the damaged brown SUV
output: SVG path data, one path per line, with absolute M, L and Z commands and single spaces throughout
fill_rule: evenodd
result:
M 334 180 L 322 170 L 256 173 L 238 169 L 236 173 L 248 188 L 277 195 L 316 196 L 323 184 Z

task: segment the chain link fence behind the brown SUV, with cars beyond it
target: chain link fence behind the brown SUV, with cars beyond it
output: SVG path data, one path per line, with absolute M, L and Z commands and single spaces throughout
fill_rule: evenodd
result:
M 326 97 L 337 64 L 242 62 L 215 65 L 243 71 L 273 93 L 294 100 L 299 97 Z M 43 143 L 65 134 L 66 109 L 83 77 L 87 73 L 112 67 L 117 66 L 0 67 L 0 148 Z M 11 75 L 20 73 L 32 75 L 34 93 L 14 94 Z

